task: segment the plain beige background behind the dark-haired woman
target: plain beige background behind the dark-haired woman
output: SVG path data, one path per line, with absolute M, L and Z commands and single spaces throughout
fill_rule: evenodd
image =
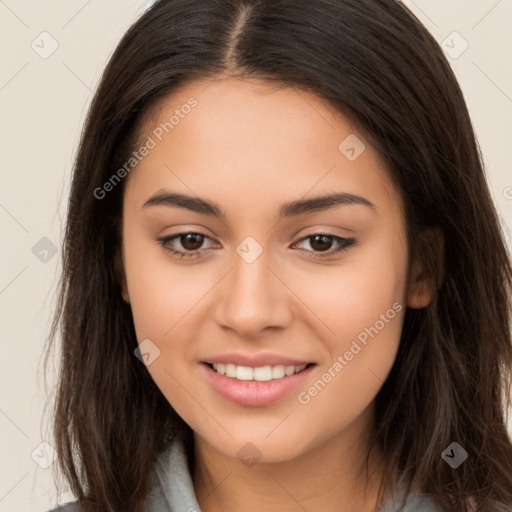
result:
M 512 0 L 404 3 L 451 54 L 510 245 Z M 51 448 L 41 446 L 48 437 L 40 358 L 60 265 L 60 251 L 53 255 L 52 247 L 61 244 L 73 156 L 92 91 L 147 5 L 0 0 L 1 512 L 40 512 L 55 504 L 52 467 L 44 469 Z M 65 493 L 60 500 L 72 498 Z

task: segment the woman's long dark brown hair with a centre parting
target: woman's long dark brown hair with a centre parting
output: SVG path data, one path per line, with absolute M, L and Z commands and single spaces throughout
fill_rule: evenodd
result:
M 443 511 L 510 510 L 511 264 L 457 80 L 395 0 L 160 0 L 122 38 L 74 165 L 45 359 L 60 332 L 54 445 L 80 510 L 139 512 L 165 443 L 191 432 L 134 356 L 114 268 L 125 180 L 95 191 L 136 149 L 145 114 L 221 74 L 310 91 L 348 116 L 389 168 L 410 253 L 439 283 L 429 306 L 406 311 L 377 395 L 368 456 L 383 451 L 384 486 L 407 472 Z M 425 243 L 428 228 L 444 246 Z M 452 442 L 468 453 L 456 469 L 441 456 Z

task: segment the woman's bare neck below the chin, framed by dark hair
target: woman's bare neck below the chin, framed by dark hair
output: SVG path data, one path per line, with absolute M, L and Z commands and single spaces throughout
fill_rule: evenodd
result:
M 372 452 L 368 475 L 366 418 L 290 460 L 247 467 L 194 434 L 194 490 L 202 512 L 375 512 L 382 458 Z M 368 422 L 366 422 L 368 424 Z M 362 434 L 363 432 L 363 434 Z

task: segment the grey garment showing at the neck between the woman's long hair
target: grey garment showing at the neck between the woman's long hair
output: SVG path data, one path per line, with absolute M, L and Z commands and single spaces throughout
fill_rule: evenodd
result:
M 201 512 L 197 503 L 188 469 L 185 448 L 175 439 L 158 458 L 152 475 L 153 487 L 144 512 Z M 403 495 L 399 499 L 402 499 Z M 399 502 L 385 501 L 378 512 L 395 512 Z M 403 512 L 439 512 L 427 496 L 409 495 Z M 76 502 L 62 505 L 48 512 L 78 512 Z

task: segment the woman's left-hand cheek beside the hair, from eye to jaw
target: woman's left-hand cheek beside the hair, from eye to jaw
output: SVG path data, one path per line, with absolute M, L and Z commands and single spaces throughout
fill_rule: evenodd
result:
M 124 236 L 124 254 L 135 333 L 138 343 L 144 342 L 152 354 L 147 370 L 172 406 L 180 414 L 185 411 L 188 419 L 189 393 L 194 393 L 190 375 L 197 364 L 190 340 L 200 323 L 197 303 L 212 285 L 198 279 L 192 267 L 171 263 L 157 242 L 133 231 Z

